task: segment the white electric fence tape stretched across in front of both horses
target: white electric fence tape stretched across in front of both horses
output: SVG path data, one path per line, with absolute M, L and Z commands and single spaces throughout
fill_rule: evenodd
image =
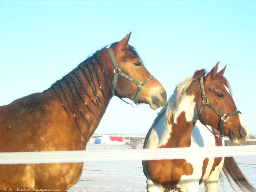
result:
M 256 155 L 256 145 L 194 148 L 123 149 L 0 153 L 0 164 L 140 161 Z

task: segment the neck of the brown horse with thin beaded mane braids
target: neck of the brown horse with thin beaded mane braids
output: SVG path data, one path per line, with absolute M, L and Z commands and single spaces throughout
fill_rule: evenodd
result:
M 94 54 L 79 64 L 48 89 L 60 106 L 59 110 L 62 110 L 60 114 L 63 114 L 63 110 L 66 111 L 64 115 L 69 116 L 73 127 L 79 130 L 85 141 L 96 130 L 113 96 L 108 84 L 113 78 L 110 73 L 110 69 L 114 70 L 112 60 L 106 58 L 102 51 L 98 52 L 98 58 L 95 56 Z

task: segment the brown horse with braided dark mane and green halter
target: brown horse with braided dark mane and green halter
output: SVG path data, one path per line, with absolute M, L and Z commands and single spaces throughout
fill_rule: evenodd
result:
M 48 90 L 1 106 L 0 152 L 84 150 L 113 94 L 152 109 L 164 106 L 163 86 L 128 45 L 129 38 L 97 51 Z M 0 165 L 0 190 L 67 190 L 82 166 Z

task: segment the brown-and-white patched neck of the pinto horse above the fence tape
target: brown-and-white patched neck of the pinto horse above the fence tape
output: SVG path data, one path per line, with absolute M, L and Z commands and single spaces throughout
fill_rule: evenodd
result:
M 196 122 L 194 95 L 184 95 L 178 104 L 166 111 L 165 130 L 168 130 L 168 137 L 161 141 L 161 147 L 189 147 L 191 134 Z M 170 112 L 172 110 L 172 112 Z M 171 114 L 171 115 L 168 115 Z M 162 138 L 164 138 L 162 137 Z

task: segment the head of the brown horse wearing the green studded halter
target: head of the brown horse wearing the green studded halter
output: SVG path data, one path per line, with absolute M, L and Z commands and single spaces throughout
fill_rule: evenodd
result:
M 150 75 L 136 50 L 128 45 L 130 34 L 108 48 L 113 54 L 112 60 L 115 59 L 118 65 L 113 68 L 114 74 L 122 76 L 116 82 L 113 80 L 113 94 L 130 98 L 135 104 L 146 103 L 152 109 L 157 109 L 166 104 L 166 91 L 160 82 Z

